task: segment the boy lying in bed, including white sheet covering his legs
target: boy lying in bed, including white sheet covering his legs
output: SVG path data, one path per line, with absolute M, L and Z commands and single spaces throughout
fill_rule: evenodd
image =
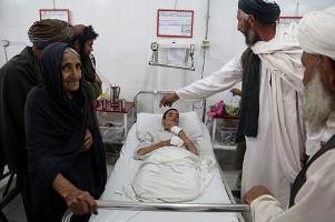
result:
M 178 127 L 178 110 L 166 111 L 161 124 L 161 130 L 140 139 L 135 159 L 142 162 L 131 185 L 126 186 L 126 195 L 149 202 L 195 200 L 211 181 L 215 161 L 197 155 L 197 141 Z

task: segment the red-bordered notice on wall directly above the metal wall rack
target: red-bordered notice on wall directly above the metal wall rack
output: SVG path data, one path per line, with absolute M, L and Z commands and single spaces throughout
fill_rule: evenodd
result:
M 157 37 L 193 37 L 194 11 L 158 9 Z

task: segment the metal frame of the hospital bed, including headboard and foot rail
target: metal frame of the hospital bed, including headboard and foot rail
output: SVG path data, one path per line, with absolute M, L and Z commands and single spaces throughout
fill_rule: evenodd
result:
M 139 91 L 135 98 L 135 120 L 138 113 L 138 97 L 140 94 L 166 94 L 171 91 Z M 216 163 L 218 164 L 217 160 Z M 97 200 L 98 209 L 111 209 L 111 210 L 128 210 L 128 211 L 175 211 L 175 212 L 234 212 L 237 214 L 239 222 L 245 222 L 242 213 L 249 212 L 250 208 L 248 204 L 237 204 L 235 198 L 229 189 L 229 185 L 224 176 L 220 168 L 219 173 L 221 175 L 223 183 L 225 185 L 226 192 L 229 196 L 230 204 L 200 204 L 200 203 L 150 203 L 150 202 L 124 202 L 124 201 L 99 201 Z M 62 222 L 69 222 L 72 213 L 67 212 L 62 219 Z

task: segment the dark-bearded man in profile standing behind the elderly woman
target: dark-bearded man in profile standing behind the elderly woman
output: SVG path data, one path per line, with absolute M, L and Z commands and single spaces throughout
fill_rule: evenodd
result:
M 96 60 L 91 52 L 93 51 L 93 42 L 98 38 L 92 26 L 77 24 L 73 27 L 75 38 L 72 48 L 80 54 L 82 89 L 89 101 L 89 122 L 91 125 L 99 127 L 97 115 L 93 110 L 93 101 L 101 94 L 101 80 L 96 71 Z

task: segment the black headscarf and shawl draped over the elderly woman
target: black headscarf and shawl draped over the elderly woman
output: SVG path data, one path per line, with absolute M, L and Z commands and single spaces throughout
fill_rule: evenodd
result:
M 52 205 L 50 193 L 58 173 L 95 198 L 102 193 L 107 178 L 97 129 L 90 129 L 91 149 L 82 152 L 88 102 L 81 87 L 72 100 L 62 91 L 61 61 L 67 47 L 56 42 L 43 50 L 40 60 L 43 81 L 31 90 L 24 109 L 28 170 L 37 208 Z

